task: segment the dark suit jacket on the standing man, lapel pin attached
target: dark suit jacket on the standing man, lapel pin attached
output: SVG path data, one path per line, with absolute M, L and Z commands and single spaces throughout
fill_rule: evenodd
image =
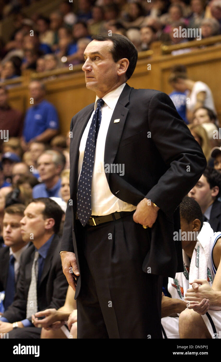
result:
M 61 250 L 75 252 L 80 274 L 80 241 L 75 233 L 79 143 L 93 110 L 94 103 L 79 111 L 70 125 L 73 206 L 67 203 Z M 118 118 L 120 122 L 114 123 Z M 173 240 L 173 232 L 180 228 L 178 206 L 199 180 L 206 159 L 167 94 L 134 89 L 126 84 L 114 109 L 105 143 L 104 164 L 113 163 L 124 164 L 124 176 L 106 173 L 113 194 L 117 192 L 119 199 L 132 205 L 146 197 L 160 207 L 143 270 L 147 272 L 147 267 L 151 267 L 152 274 L 174 277 L 176 271 L 183 270 L 181 242 Z M 75 299 L 80 285 L 79 277 Z

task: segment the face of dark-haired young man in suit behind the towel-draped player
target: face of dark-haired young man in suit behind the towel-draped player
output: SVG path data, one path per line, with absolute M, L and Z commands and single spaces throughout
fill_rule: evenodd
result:
M 213 189 L 210 189 L 204 175 L 202 175 L 197 184 L 189 191 L 188 196 L 195 199 L 202 210 L 213 201 Z M 205 211 L 204 211 L 205 212 Z

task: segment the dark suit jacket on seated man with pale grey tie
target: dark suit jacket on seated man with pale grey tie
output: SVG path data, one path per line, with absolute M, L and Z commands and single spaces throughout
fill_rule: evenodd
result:
M 59 255 L 60 248 L 60 239 L 57 235 L 54 235 L 37 290 L 40 311 L 48 308 L 58 309 L 65 302 L 68 284 L 62 271 L 61 257 Z M 31 244 L 21 255 L 15 300 L 3 313 L 3 317 L 7 318 L 10 323 L 26 318 L 26 304 L 32 276 L 34 252 L 34 245 Z

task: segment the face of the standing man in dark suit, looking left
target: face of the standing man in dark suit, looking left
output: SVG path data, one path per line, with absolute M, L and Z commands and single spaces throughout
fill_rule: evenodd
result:
M 86 87 L 94 92 L 107 94 L 118 81 L 119 63 L 112 58 L 112 46 L 110 40 L 93 40 L 85 49 L 82 70 L 85 72 Z

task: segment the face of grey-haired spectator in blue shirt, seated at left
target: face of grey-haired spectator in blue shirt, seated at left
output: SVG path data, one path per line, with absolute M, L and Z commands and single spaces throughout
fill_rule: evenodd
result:
M 60 173 L 60 169 L 54 164 L 53 155 L 43 153 L 37 160 L 38 172 L 42 182 L 52 179 Z

